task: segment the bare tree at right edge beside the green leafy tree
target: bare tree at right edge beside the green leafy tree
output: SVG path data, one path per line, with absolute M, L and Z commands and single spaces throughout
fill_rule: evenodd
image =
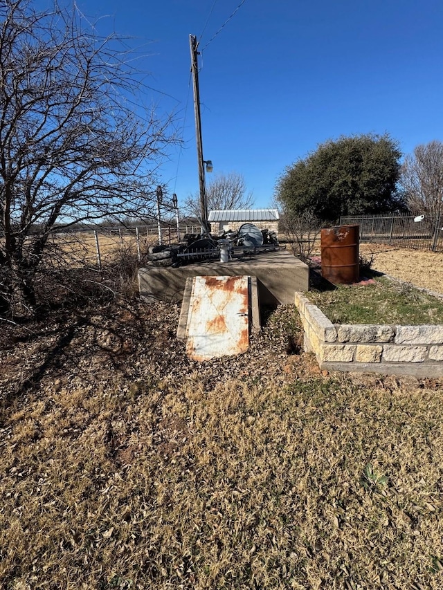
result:
M 443 143 L 417 145 L 401 166 L 400 183 L 406 204 L 416 213 L 435 217 L 442 213 Z

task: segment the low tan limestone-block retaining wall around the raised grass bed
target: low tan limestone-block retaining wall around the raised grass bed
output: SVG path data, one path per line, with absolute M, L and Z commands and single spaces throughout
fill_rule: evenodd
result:
M 443 376 L 443 326 L 332 324 L 302 293 L 295 302 L 305 350 L 322 369 Z

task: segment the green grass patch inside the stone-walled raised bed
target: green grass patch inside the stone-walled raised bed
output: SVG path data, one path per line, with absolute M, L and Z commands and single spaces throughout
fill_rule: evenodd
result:
M 377 277 L 374 284 L 309 291 L 334 324 L 443 324 L 443 302 L 408 283 Z

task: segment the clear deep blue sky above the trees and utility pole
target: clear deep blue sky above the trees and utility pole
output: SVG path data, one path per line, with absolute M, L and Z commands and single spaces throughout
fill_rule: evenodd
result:
M 257 207 L 271 205 L 287 165 L 329 138 L 387 131 L 404 154 L 443 140 L 441 0 L 245 0 L 211 41 L 239 3 L 78 0 L 91 17 L 109 15 L 104 29 L 147 43 L 140 66 L 159 92 L 145 100 L 174 111 L 183 131 L 161 169 L 179 203 L 198 190 L 190 34 L 201 37 L 204 158 L 243 174 Z

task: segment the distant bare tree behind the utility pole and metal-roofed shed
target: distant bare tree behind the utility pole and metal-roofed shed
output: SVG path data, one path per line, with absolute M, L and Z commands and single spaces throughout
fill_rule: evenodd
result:
M 218 174 L 206 189 L 208 210 L 249 209 L 254 199 L 251 192 L 246 192 L 246 183 L 242 174 L 230 172 Z M 186 200 L 185 208 L 190 215 L 200 216 L 199 195 L 193 194 Z

